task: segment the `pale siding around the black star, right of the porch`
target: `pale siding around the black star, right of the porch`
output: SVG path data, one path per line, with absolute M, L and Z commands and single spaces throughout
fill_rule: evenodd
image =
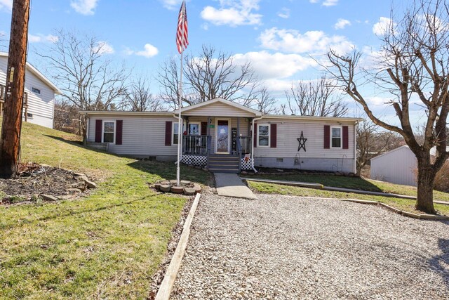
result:
M 339 123 L 333 120 L 304 120 L 304 119 L 275 119 L 267 118 L 256 121 L 256 124 L 276 123 L 276 148 L 256 147 L 254 148 L 255 157 L 310 157 L 310 158 L 339 158 L 354 159 L 354 122 L 344 122 L 342 119 Z M 332 126 L 348 126 L 348 145 L 349 149 L 330 148 L 324 149 L 324 125 Z M 301 131 L 304 138 L 307 138 L 306 149 L 298 151 Z

